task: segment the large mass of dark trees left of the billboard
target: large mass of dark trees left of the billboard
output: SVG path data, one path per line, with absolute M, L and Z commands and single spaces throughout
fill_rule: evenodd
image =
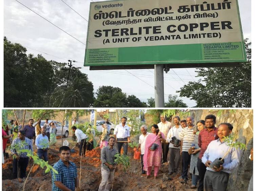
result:
M 93 84 L 66 63 L 26 55 L 26 48 L 4 37 L 4 107 L 88 107 Z

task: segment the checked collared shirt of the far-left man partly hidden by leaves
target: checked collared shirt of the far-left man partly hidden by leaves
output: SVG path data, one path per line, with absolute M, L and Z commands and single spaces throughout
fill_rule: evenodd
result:
M 12 154 L 17 154 L 20 156 L 20 158 L 27 158 L 27 152 L 18 153 L 18 151 L 16 150 L 15 147 L 18 147 L 19 150 L 27 149 L 27 150 L 31 150 L 33 152 L 33 146 L 31 144 L 31 141 L 27 137 L 25 137 L 25 140 L 21 140 L 19 137 L 14 139 L 12 142 L 12 146 L 11 146 Z

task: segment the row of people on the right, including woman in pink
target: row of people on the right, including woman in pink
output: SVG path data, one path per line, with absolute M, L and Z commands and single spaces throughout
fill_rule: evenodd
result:
M 138 148 L 141 150 L 142 173 L 146 173 L 146 178 L 150 176 L 153 166 L 154 177 L 157 177 L 161 163 L 167 162 L 170 152 L 169 175 L 178 172 L 182 161 L 180 179 L 186 183 L 189 171 L 192 189 L 198 184 L 198 191 L 226 190 L 229 174 L 238 166 L 240 158 L 240 149 L 229 149 L 225 141 L 233 126 L 221 123 L 218 128 L 215 127 L 214 115 L 207 115 L 205 120 L 199 120 L 195 125 L 192 117 L 180 120 L 179 116 L 175 116 L 173 127 L 166 117 L 161 115 L 160 120 L 159 124 L 151 127 L 152 133 L 147 132 L 146 126 L 141 127 Z M 210 167 L 215 159 L 222 157 L 224 163 L 220 167 Z

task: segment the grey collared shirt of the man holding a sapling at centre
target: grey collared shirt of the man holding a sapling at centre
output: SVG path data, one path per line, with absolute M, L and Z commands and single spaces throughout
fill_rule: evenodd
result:
M 104 164 L 107 162 L 108 164 L 114 164 L 114 160 L 116 159 L 114 156 L 117 153 L 117 150 L 113 147 L 112 149 L 110 146 L 105 146 L 101 149 L 100 152 L 100 160 L 101 160 L 101 166 L 107 171 L 110 171 L 110 169 Z

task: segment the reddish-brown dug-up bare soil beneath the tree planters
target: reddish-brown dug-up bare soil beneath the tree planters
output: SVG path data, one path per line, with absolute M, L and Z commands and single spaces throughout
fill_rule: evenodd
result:
M 71 141 L 70 141 L 71 142 Z M 72 143 L 73 145 L 75 142 Z M 49 164 L 54 164 L 59 160 L 58 149 L 61 145 L 58 140 L 56 146 L 52 146 L 48 151 Z M 75 148 L 75 153 L 71 155 L 71 161 L 77 165 L 78 177 L 80 176 L 80 157 L 78 155 L 78 148 Z M 145 174 L 141 175 L 140 160 L 133 159 L 133 149 L 128 149 L 128 156 L 131 158 L 130 167 L 126 172 L 122 170 L 121 166 L 118 166 L 118 170 L 114 176 L 113 190 L 117 191 L 192 191 L 196 189 L 190 189 L 191 179 L 188 184 L 183 184 L 179 180 L 180 173 L 174 173 L 166 179 L 168 174 L 168 163 L 161 166 L 158 177 L 154 180 L 152 175 L 149 179 L 145 179 Z M 27 174 L 31 169 L 33 163 L 29 162 L 27 167 Z M 96 147 L 93 151 L 86 151 L 86 156 L 82 158 L 81 167 L 81 190 L 94 191 L 98 190 L 101 182 L 101 161 L 100 161 L 100 148 Z M 6 160 L 6 163 L 2 165 L 2 190 L 3 191 L 19 191 L 22 190 L 24 179 L 12 179 L 12 159 Z M 25 185 L 25 190 L 52 190 L 51 173 L 44 173 L 38 165 L 35 165 L 29 174 L 29 178 Z M 78 189 L 77 189 L 78 190 Z

